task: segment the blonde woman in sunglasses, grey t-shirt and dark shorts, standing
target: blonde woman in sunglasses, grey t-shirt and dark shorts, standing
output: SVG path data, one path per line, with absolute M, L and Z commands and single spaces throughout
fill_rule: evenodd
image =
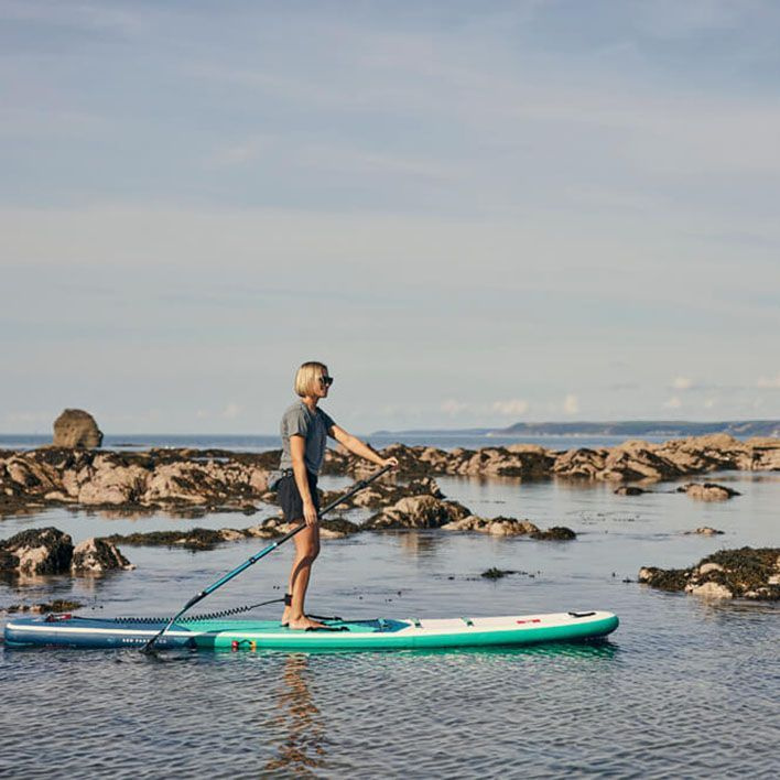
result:
M 279 500 L 288 522 L 306 528 L 296 533 L 295 557 L 290 572 L 290 585 L 284 596 L 282 625 L 290 628 L 326 628 L 306 617 L 303 603 L 306 597 L 312 564 L 319 554 L 317 474 L 325 458 L 325 442 L 332 436 L 349 452 L 378 466 L 398 466 L 394 457 L 384 459 L 356 436 L 347 433 L 317 405 L 333 384 L 327 366 L 304 362 L 295 375 L 295 392 L 301 400 L 285 412 L 281 423 L 282 461 L 284 473 L 279 483 Z

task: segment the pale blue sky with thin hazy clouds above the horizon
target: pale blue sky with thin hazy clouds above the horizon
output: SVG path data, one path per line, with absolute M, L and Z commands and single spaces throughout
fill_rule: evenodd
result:
M 0 432 L 780 418 L 780 4 L 0 0 Z

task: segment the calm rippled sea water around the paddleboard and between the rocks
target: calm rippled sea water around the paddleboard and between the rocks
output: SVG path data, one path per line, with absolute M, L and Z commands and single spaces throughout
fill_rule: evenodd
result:
M 315 564 L 315 613 L 423 620 L 617 613 L 619 629 L 598 643 L 158 658 L 0 649 L 0 774 L 776 777 L 778 607 L 705 602 L 636 583 L 641 565 L 689 566 L 722 548 L 778 545 L 780 474 L 707 479 L 743 495 L 701 503 L 674 492 L 679 483 L 619 497 L 604 484 L 441 477 L 444 492 L 478 514 L 563 524 L 577 539 L 360 533 L 325 542 Z M 325 488 L 347 483 L 323 478 Z M 75 542 L 239 528 L 275 511 L 183 520 L 56 509 L 0 520 L 0 538 L 42 526 Z M 701 526 L 724 534 L 686 533 Z M 74 598 L 84 615 L 167 615 L 263 545 L 248 540 L 196 553 L 126 546 L 138 566 L 132 572 L 7 582 L 0 606 Z M 264 557 L 203 609 L 281 597 L 290 555 L 281 548 Z M 481 577 L 491 566 L 516 573 Z M 280 611 L 274 604 L 253 615 Z

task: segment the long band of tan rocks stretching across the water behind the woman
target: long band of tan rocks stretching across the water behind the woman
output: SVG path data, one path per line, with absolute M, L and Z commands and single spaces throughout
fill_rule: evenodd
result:
M 676 479 L 715 469 L 780 470 L 780 440 L 739 442 L 726 435 L 700 436 L 663 444 L 625 442 L 611 448 L 553 452 L 517 444 L 483 449 L 408 447 L 393 444 L 400 468 L 353 497 L 346 508 L 381 508 L 404 496 L 441 497 L 431 475 L 480 477 L 583 478 L 615 481 Z M 143 453 L 54 448 L 0 451 L 0 513 L 55 505 L 99 508 L 192 511 L 256 511 L 257 501 L 272 501 L 270 470 L 279 451 L 234 453 L 220 449 L 150 449 Z M 376 467 L 344 452 L 329 451 L 325 472 L 365 477 Z M 408 485 L 398 480 L 412 479 Z M 636 495 L 636 486 L 624 495 Z M 327 494 L 329 500 L 335 494 Z

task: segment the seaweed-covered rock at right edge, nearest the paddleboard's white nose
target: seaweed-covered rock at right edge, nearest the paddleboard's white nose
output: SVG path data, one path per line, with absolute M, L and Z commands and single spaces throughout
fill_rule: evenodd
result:
M 780 599 L 780 548 L 721 550 L 691 568 L 639 570 L 640 583 L 709 598 Z

